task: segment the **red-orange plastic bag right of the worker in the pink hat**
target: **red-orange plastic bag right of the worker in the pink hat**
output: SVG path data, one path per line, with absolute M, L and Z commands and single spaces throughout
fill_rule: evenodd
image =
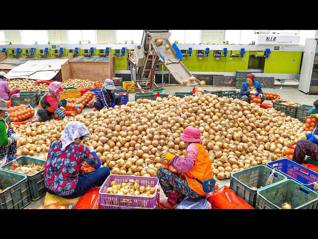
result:
M 208 201 L 212 209 L 254 209 L 226 186 L 213 191 Z

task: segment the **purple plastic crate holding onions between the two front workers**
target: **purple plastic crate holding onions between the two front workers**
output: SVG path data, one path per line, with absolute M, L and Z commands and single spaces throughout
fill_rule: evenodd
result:
M 141 186 L 159 187 L 157 177 L 142 177 L 128 175 L 109 175 L 99 190 L 100 209 L 158 209 L 158 191 L 153 197 L 117 195 L 106 193 L 111 181 L 128 183 L 130 179 L 139 180 Z M 129 201 L 122 201 L 128 199 Z

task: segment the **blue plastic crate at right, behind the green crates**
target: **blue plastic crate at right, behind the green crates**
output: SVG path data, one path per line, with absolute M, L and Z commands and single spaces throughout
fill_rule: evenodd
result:
M 318 188 L 314 188 L 315 182 L 318 182 L 318 173 L 306 168 L 287 158 L 268 162 L 267 166 L 284 174 L 287 178 L 318 192 Z

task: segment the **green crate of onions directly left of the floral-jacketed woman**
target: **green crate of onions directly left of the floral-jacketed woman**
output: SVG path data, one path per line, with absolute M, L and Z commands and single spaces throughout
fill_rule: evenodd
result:
M 26 165 L 26 164 L 30 164 L 30 163 L 45 164 L 45 160 L 43 160 L 43 159 L 33 158 L 33 157 L 29 157 L 29 156 L 20 156 L 20 157 L 17 157 L 15 160 L 12 160 L 11 162 L 4 164 L 3 166 L 1 166 L 1 168 L 3 170 L 9 170 L 10 172 L 12 172 L 10 170 L 10 167 L 12 166 L 13 161 L 17 161 L 22 166 Z M 21 174 L 21 175 L 26 175 L 26 174 L 19 173 L 19 172 L 16 172 L 16 173 Z M 44 169 L 35 173 L 35 174 L 26 175 L 26 176 L 27 176 L 28 184 L 29 184 L 29 188 L 30 188 L 31 199 L 32 199 L 32 201 L 36 201 L 46 193 L 44 190 Z

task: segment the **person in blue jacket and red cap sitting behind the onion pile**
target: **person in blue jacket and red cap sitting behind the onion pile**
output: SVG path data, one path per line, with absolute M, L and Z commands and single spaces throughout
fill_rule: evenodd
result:
M 239 100 L 250 103 L 251 96 L 260 96 L 262 98 L 261 103 L 266 100 L 266 96 L 263 95 L 259 82 L 254 79 L 255 75 L 253 74 L 248 74 L 246 76 L 246 81 L 243 82 L 242 87 L 240 88 Z

